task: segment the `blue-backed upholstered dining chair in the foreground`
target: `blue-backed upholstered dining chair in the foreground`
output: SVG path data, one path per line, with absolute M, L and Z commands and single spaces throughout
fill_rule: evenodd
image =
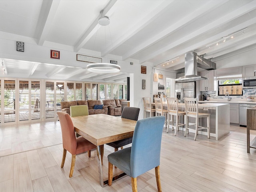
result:
M 132 191 L 137 192 L 137 177 L 155 168 L 158 192 L 160 184 L 160 150 L 164 116 L 138 120 L 134 129 L 132 146 L 108 155 L 108 185 L 113 178 L 113 165 L 132 178 Z

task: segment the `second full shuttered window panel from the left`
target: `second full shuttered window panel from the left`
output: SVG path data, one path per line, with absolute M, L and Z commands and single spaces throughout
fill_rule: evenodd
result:
M 19 119 L 28 120 L 29 116 L 29 88 L 28 81 L 19 81 Z

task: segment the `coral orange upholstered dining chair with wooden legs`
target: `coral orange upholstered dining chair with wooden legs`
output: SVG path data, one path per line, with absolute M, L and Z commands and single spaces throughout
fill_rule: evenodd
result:
M 69 114 L 60 111 L 57 112 L 57 114 L 60 120 L 63 142 L 63 156 L 60 167 L 63 168 L 64 166 L 66 152 L 68 150 L 68 152 L 72 154 L 71 168 L 69 173 L 69 177 L 72 177 L 76 162 L 76 154 L 88 151 L 88 157 L 90 157 L 90 150 L 95 149 L 96 146 L 83 137 L 76 138 L 74 125 Z

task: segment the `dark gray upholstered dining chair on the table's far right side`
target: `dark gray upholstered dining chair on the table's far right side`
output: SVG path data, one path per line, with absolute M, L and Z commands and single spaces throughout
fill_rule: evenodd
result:
M 122 111 L 122 115 L 121 118 L 126 118 L 126 119 L 131 119 L 131 120 L 138 120 L 139 117 L 139 113 L 140 113 L 140 108 L 136 108 L 136 107 L 124 107 L 123 111 Z M 115 151 L 118 150 L 118 148 L 123 148 L 123 146 L 128 145 L 132 143 L 132 137 L 130 138 L 126 138 L 126 139 L 122 139 L 119 141 L 114 141 L 111 143 L 107 143 L 107 145 L 112 146 L 115 148 Z

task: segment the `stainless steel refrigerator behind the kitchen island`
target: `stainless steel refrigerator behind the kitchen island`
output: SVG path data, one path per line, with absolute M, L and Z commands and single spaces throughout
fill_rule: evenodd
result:
M 196 98 L 196 82 L 175 83 L 175 96 L 181 103 L 185 97 Z

